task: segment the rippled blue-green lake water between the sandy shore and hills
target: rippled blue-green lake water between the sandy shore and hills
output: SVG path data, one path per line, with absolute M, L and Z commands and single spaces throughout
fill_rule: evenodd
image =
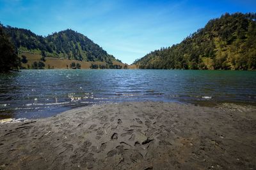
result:
M 0 118 L 38 118 L 93 103 L 256 103 L 254 71 L 24 70 L 0 74 Z

